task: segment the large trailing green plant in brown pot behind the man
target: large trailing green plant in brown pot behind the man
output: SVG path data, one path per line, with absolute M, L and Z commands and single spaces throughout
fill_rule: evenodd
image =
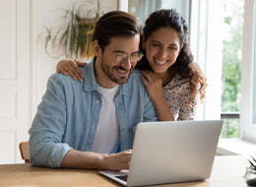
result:
M 49 56 L 57 58 L 65 55 L 66 58 L 87 59 L 94 56 L 93 32 L 96 21 L 103 14 L 99 0 L 95 2 L 96 10 L 89 9 L 92 7 L 89 3 L 92 2 L 85 1 L 83 6 L 74 5 L 70 10 L 64 10 L 59 28 L 46 28 L 44 48 Z

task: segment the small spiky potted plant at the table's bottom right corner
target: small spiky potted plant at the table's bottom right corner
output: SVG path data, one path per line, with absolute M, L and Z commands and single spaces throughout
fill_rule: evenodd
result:
M 251 160 L 248 161 L 250 166 L 246 168 L 244 178 L 249 186 L 256 186 L 256 158 L 251 156 Z

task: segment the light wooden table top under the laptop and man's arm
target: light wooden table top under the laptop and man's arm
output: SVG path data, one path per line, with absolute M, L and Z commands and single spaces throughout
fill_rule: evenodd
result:
M 160 187 L 245 187 L 243 175 L 247 166 L 243 156 L 216 156 L 211 178 L 205 181 L 157 185 Z M 0 186 L 120 186 L 95 170 L 51 169 L 30 163 L 0 165 Z

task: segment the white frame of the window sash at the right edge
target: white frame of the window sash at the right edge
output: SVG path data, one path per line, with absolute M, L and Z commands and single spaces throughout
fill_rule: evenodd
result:
M 240 138 L 256 142 L 252 124 L 255 1 L 244 1 L 243 50 L 241 70 Z

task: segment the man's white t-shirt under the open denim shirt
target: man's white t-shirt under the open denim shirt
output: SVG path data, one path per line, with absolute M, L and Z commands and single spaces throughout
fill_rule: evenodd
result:
M 113 100 L 119 92 L 119 86 L 112 89 L 98 86 L 97 91 L 102 94 L 102 105 L 96 128 L 96 139 L 91 151 L 109 154 L 116 152 L 119 144 L 119 124 Z

